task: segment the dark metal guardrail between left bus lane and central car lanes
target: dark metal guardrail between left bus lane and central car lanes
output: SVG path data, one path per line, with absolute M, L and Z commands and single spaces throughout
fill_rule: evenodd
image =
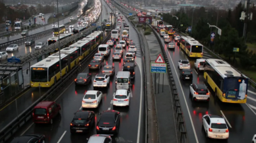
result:
M 96 19 L 95 21 L 97 21 Z M 113 24 L 115 26 L 115 24 Z M 114 27 L 113 26 L 113 27 Z M 102 40 L 102 43 L 106 43 L 108 39 L 110 38 L 111 34 L 109 34 L 104 40 Z M 100 44 L 100 43 L 99 43 Z M 56 47 L 55 47 L 56 48 Z M 77 65 L 74 69 L 72 69 L 70 72 L 67 73 L 67 75 L 63 76 L 63 80 L 59 80 L 55 86 L 51 87 L 46 94 L 44 94 L 42 97 L 40 97 L 37 101 L 32 103 L 26 110 L 24 110 L 16 119 L 13 119 L 11 123 L 6 125 L 3 129 L 0 130 L 0 143 L 5 142 L 11 136 L 20 128 L 24 123 L 29 121 L 29 119 L 32 117 L 32 112 L 34 107 L 40 103 L 40 101 L 49 101 L 53 96 L 55 96 L 61 88 L 66 86 L 67 82 L 74 76 L 74 73 L 78 73 L 80 70 L 82 70 L 82 67 L 86 66 L 86 61 L 90 59 L 96 53 L 98 48 L 94 48 L 93 51 L 90 52 L 88 56 L 86 56 L 79 65 Z

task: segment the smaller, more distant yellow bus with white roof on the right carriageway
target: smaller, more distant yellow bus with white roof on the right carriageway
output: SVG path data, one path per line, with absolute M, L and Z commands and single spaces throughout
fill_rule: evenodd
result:
M 203 57 L 203 45 L 189 36 L 181 36 L 179 45 L 189 57 Z

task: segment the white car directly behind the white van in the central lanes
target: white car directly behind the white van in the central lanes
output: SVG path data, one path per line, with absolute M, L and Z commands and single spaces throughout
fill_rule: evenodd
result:
M 129 90 L 116 90 L 113 96 L 113 106 L 129 106 L 130 96 Z

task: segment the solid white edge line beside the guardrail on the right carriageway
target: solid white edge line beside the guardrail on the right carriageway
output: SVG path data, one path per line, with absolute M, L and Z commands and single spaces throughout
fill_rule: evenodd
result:
M 167 50 L 167 51 L 168 51 L 168 50 Z M 182 52 L 182 53 L 183 53 L 183 52 Z M 170 59 L 171 59 L 171 61 L 172 61 L 172 57 L 171 57 L 169 51 L 168 51 L 168 54 L 169 54 Z M 172 61 L 172 65 L 174 65 L 174 61 Z M 178 74 L 177 74 L 177 71 L 176 71 L 175 66 L 174 66 L 174 71 L 175 71 L 175 73 L 176 73 L 176 76 L 179 77 Z M 183 88 L 182 88 L 182 86 L 181 86 L 181 82 L 180 82 L 179 78 L 177 78 L 177 81 L 179 82 L 179 86 L 180 86 L 180 88 L 181 88 L 182 96 L 183 96 L 183 98 L 184 98 L 185 105 L 186 105 L 186 107 L 187 107 L 187 112 L 189 113 L 189 119 L 190 119 L 190 121 L 191 121 L 191 126 L 192 126 L 192 129 L 193 129 L 193 132 L 194 132 L 194 134 L 195 134 L 195 140 L 196 140 L 197 143 L 199 143 L 198 138 L 197 138 L 197 132 L 195 132 L 195 126 L 194 126 L 193 123 L 192 123 L 191 114 L 190 114 L 190 112 L 189 112 L 189 106 L 187 105 L 187 100 L 186 100 L 186 98 L 185 98 L 185 94 L 184 94 L 184 92 L 183 92 Z

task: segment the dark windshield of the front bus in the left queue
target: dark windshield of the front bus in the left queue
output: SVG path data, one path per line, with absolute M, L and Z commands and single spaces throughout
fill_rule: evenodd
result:
M 41 68 L 44 70 L 31 69 L 31 81 L 32 82 L 48 82 L 48 70 L 47 68 Z

